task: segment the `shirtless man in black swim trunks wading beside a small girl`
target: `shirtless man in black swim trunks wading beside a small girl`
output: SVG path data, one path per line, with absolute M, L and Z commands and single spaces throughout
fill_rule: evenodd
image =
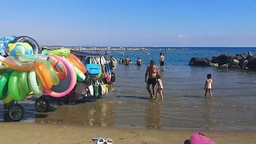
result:
M 149 74 L 149 78 L 147 78 L 147 74 Z M 158 66 L 154 65 L 154 61 L 150 61 L 150 66 L 147 66 L 146 68 L 146 74 L 145 74 L 145 82 L 146 82 L 146 89 L 150 93 L 150 99 L 154 97 L 155 92 L 155 85 L 157 84 L 156 76 L 159 74 Z M 152 85 L 152 93 L 150 90 L 150 85 Z

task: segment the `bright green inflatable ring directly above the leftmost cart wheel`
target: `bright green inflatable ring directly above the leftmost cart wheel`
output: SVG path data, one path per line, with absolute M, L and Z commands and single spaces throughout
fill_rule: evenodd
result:
M 18 88 L 18 82 L 19 82 L 19 74 L 20 71 L 15 70 L 12 74 L 10 74 L 9 82 L 8 82 L 8 92 L 10 94 L 10 97 L 14 101 L 22 101 L 24 98 L 26 98 L 26 93 L 23 93 Z

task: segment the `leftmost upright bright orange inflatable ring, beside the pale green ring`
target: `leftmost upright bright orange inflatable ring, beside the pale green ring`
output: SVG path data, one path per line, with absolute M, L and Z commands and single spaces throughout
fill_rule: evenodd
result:
M 53 86 L 53 83 L 51 83 L 50 75 L 47 74 L 47 67 L 44 65 L 44 62 L 34 62 L 34 69 L 40 78 L 42 85 L 50 89 Z

